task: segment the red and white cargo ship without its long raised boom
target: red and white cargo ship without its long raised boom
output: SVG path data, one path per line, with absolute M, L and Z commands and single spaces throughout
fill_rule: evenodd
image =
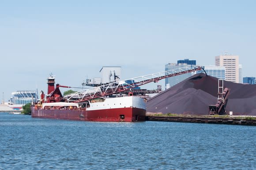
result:
M 83 103 L 66 102 L 55 77 L 47 78 L 48 94 L 41 91 L 41 101 L 31 106 L 33 118 L 67 119 L 102 122 L 145 121 L 146 103 L 143 98 L 129 95 L 123 97 L 94 98 Z

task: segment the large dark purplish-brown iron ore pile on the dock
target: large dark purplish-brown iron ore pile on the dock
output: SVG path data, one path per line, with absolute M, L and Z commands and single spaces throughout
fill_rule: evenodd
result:
M 256 84 L 224 81 L 230 89 L 226 112 L 233 115 L 256 116 Z M 183 115 L 208 115 L 209 105 L 218 98 L 218 79 L 204 73 L 196 74 L 147 101 L 147 112 Z

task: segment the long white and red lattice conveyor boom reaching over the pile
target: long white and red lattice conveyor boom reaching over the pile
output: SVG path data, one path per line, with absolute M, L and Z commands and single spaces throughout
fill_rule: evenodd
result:
M 202 67 L 195 65 L 185 66 L 178 69 L 168 70 L 165 72 L 158 72 L 154 74 L 149 74 L 147 76 L 140 76 L 132 79 L 105 84 L 87 90 L 78 91 L 73 94 L 68 94 L 64 97 L 67 99 L 68 102 L 79 103 L 94 98 L 100 98 L 103 96 L 116 94 L 147 83 L 156 83 L 159 80 L 166 79 L 168 77 L 178 76 L 189 72 L 195 72 L 201 69 Z

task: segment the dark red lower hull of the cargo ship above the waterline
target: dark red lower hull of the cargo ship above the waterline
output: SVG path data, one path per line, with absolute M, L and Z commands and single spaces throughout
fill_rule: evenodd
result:
M 46 119 L 66 119 L 80 121 L 100 121 L 100 122 L 136 122 L 145 121 L 146 110 L 139 108 L 116 108 L 116 109 L 35 109 L 31 108 L 33 118 Z

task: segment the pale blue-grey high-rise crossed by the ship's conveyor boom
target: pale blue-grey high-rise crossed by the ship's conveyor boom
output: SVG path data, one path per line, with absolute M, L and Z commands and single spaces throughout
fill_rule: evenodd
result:
M 165 71 L 172 70 L 172 69 L 179 69 L 179 68 L 186 67 L 186 66 L 188 66 L 188 65 L 187 64 L 169 63 L 169 64 L 165 65 Z M 180 83 L 181 81 L 187 79 L 190 76 L 192 76 L 192 74 L 189 72 L 189 73 L 182 74 L 179 76 L 173 76 L 173 77 L 166 78 L 165 79 L 166 89 L 168 89 L 169 87 L 173 87 L 175 84 Z

